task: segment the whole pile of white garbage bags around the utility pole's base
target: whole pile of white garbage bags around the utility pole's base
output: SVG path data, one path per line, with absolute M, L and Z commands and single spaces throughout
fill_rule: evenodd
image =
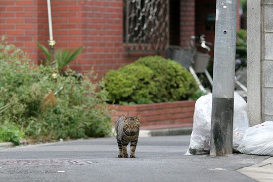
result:
M 186 155 L 209 154 L 211 108 L 212 94 L 202 96 L 196 101 L 191 142 Z M 273 122 L 267 121 L 249 127 L 247 103 L 236 92 L 234 93 L 233 149 L 244 154 L 273 155 Z

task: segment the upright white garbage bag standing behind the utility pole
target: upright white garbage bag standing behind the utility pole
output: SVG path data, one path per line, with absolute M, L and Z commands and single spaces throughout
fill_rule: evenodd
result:
M 212 94 L 200 97 L 195 103 L 191 143 L 186 155 L 208 154 L 210 149 Z M 237 149 L 249 127 L 247 103 L 234 93 L 233 148 Z

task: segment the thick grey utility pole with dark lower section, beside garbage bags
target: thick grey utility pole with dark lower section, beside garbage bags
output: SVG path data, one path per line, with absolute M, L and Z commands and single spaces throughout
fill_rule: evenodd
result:
M 210 156 L 232 154 L 237 0 L 217 0 Z

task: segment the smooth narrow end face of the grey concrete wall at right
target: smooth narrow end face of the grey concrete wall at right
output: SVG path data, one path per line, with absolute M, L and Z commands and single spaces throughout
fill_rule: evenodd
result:
M 250 125 L 261 122 L 261 7 L 260 0 L 247 1 L 247 103 Z

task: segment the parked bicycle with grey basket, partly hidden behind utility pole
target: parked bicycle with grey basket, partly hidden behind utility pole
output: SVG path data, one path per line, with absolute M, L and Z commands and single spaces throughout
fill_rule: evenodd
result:
M 211 90 L 205 89 L 197 74 L 205 74 L 212 87 L 213 80 L 207 67 L 210 60 L 209 53 L 213 47 L 213 43 L 206 41 L 205 35 L 202 34 L 199 37 L 195 35 L 190 36 L 189 44 L 189 47 L 186 49 L 182 49 L 178 45 L 170 45 L 166 57 L 180 63 L 183 67 L 188 69 L 197 82 L 199 89 L 204 93 L 210 93 Z M 241 97 L 246 98 L 247 87 L 245 84 L 240 82 L 242 77 L 246 77 L 246 69 L 242 69 L 242 64 L 244 64 L 242 60 L 236 59 L 235 90 L 237 90 Z

